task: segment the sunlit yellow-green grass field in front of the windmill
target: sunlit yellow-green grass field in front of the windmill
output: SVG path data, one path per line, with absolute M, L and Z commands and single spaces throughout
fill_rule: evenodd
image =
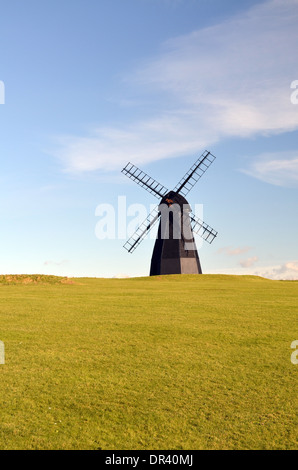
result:
M 297 448 L 297 311 L 252 276 L 0 276 L 0 448 Z

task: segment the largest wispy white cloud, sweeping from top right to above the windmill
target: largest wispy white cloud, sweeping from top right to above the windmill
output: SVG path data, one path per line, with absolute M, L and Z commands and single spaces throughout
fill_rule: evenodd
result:
M 129 78 L 157 115 L 62 137 L 56 156 L 69 171 L 113 170 L 196 153 L 228 136 L 298 129 L 290 100 L 297 23 L 298 0 L 271 0 L 168 41 Z

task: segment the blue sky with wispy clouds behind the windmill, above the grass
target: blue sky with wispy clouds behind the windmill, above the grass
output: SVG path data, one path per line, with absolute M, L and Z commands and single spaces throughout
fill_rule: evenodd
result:
M 149 211 L 122 167 L 171 189 L 207 148 L 203 271 L 298 279 L 298 0 L 0 7 L 1 273 L 147 275 L 154 240 L 99 240 L 96 208 Z

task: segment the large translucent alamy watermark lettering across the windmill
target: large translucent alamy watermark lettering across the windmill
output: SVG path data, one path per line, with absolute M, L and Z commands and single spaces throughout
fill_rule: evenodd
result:
M 173 202 L 173 201 L 171 201 Z M 160 217 L 160 237 L 162 239 L 185 239 L 190 242 L 192 233 L 190 230 L 189 216 L 190 206 L 184 204 L 160 204 L 158 206 Z M 151 204 L 150 209 L 144 204 L 136 203 L 127 205 L 126 196 L 118 196 L 117 207 L 112 204 L 99 204 L 95 210 L 95 216 L 99 221 L 95 226 L 95 235 L 99 240 L 126 240 L 133 236 L 140 226 L 150 224 L 150 217 L 156 212 L 156 204 Z M 203 220 L 203 204 L 195 204 L 193 214 Z M 173 218 L 172 229 L 169 229 L 170 217 Z M 153 219 L 153 217 L 152 217 Z M 170 233 L 171 232 L 171 233 Z M 154 230 L 148 230 L 144 238 L 155 239 Z M 201 243 L 201 240 L 198 242 Z M 189 248 L 191 249 L 191 248 Z

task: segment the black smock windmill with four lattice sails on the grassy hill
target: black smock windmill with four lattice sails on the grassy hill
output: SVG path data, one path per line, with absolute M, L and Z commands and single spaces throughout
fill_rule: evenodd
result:
M 191 212 L 185 197 L 214 160 L 215 156 L 206 150 L 172 191 L 132 163 L 123 168 L 122 173 L 161 200 L 124 245 L 124 248 L 132 253 L 160 220 L 151 258 L 150 276 L 202 274 L 193 232 L 208 243 L 213 242 L 217 232 Z

